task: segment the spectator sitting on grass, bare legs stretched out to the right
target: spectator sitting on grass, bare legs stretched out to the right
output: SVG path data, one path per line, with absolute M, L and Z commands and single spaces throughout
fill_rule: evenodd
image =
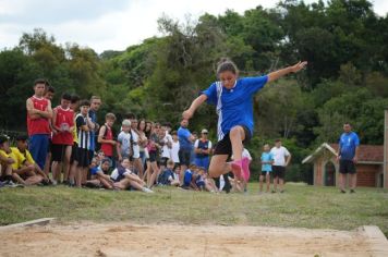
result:
M 129 189 L 134 188 L 145 193 L 154 193 L 145 186 L 144 181 L 130 170 L 131 162 L 129 158 L 123 158 L 121 163 L 112 171 L 111 180 L 114 181 L 114 188 Z

